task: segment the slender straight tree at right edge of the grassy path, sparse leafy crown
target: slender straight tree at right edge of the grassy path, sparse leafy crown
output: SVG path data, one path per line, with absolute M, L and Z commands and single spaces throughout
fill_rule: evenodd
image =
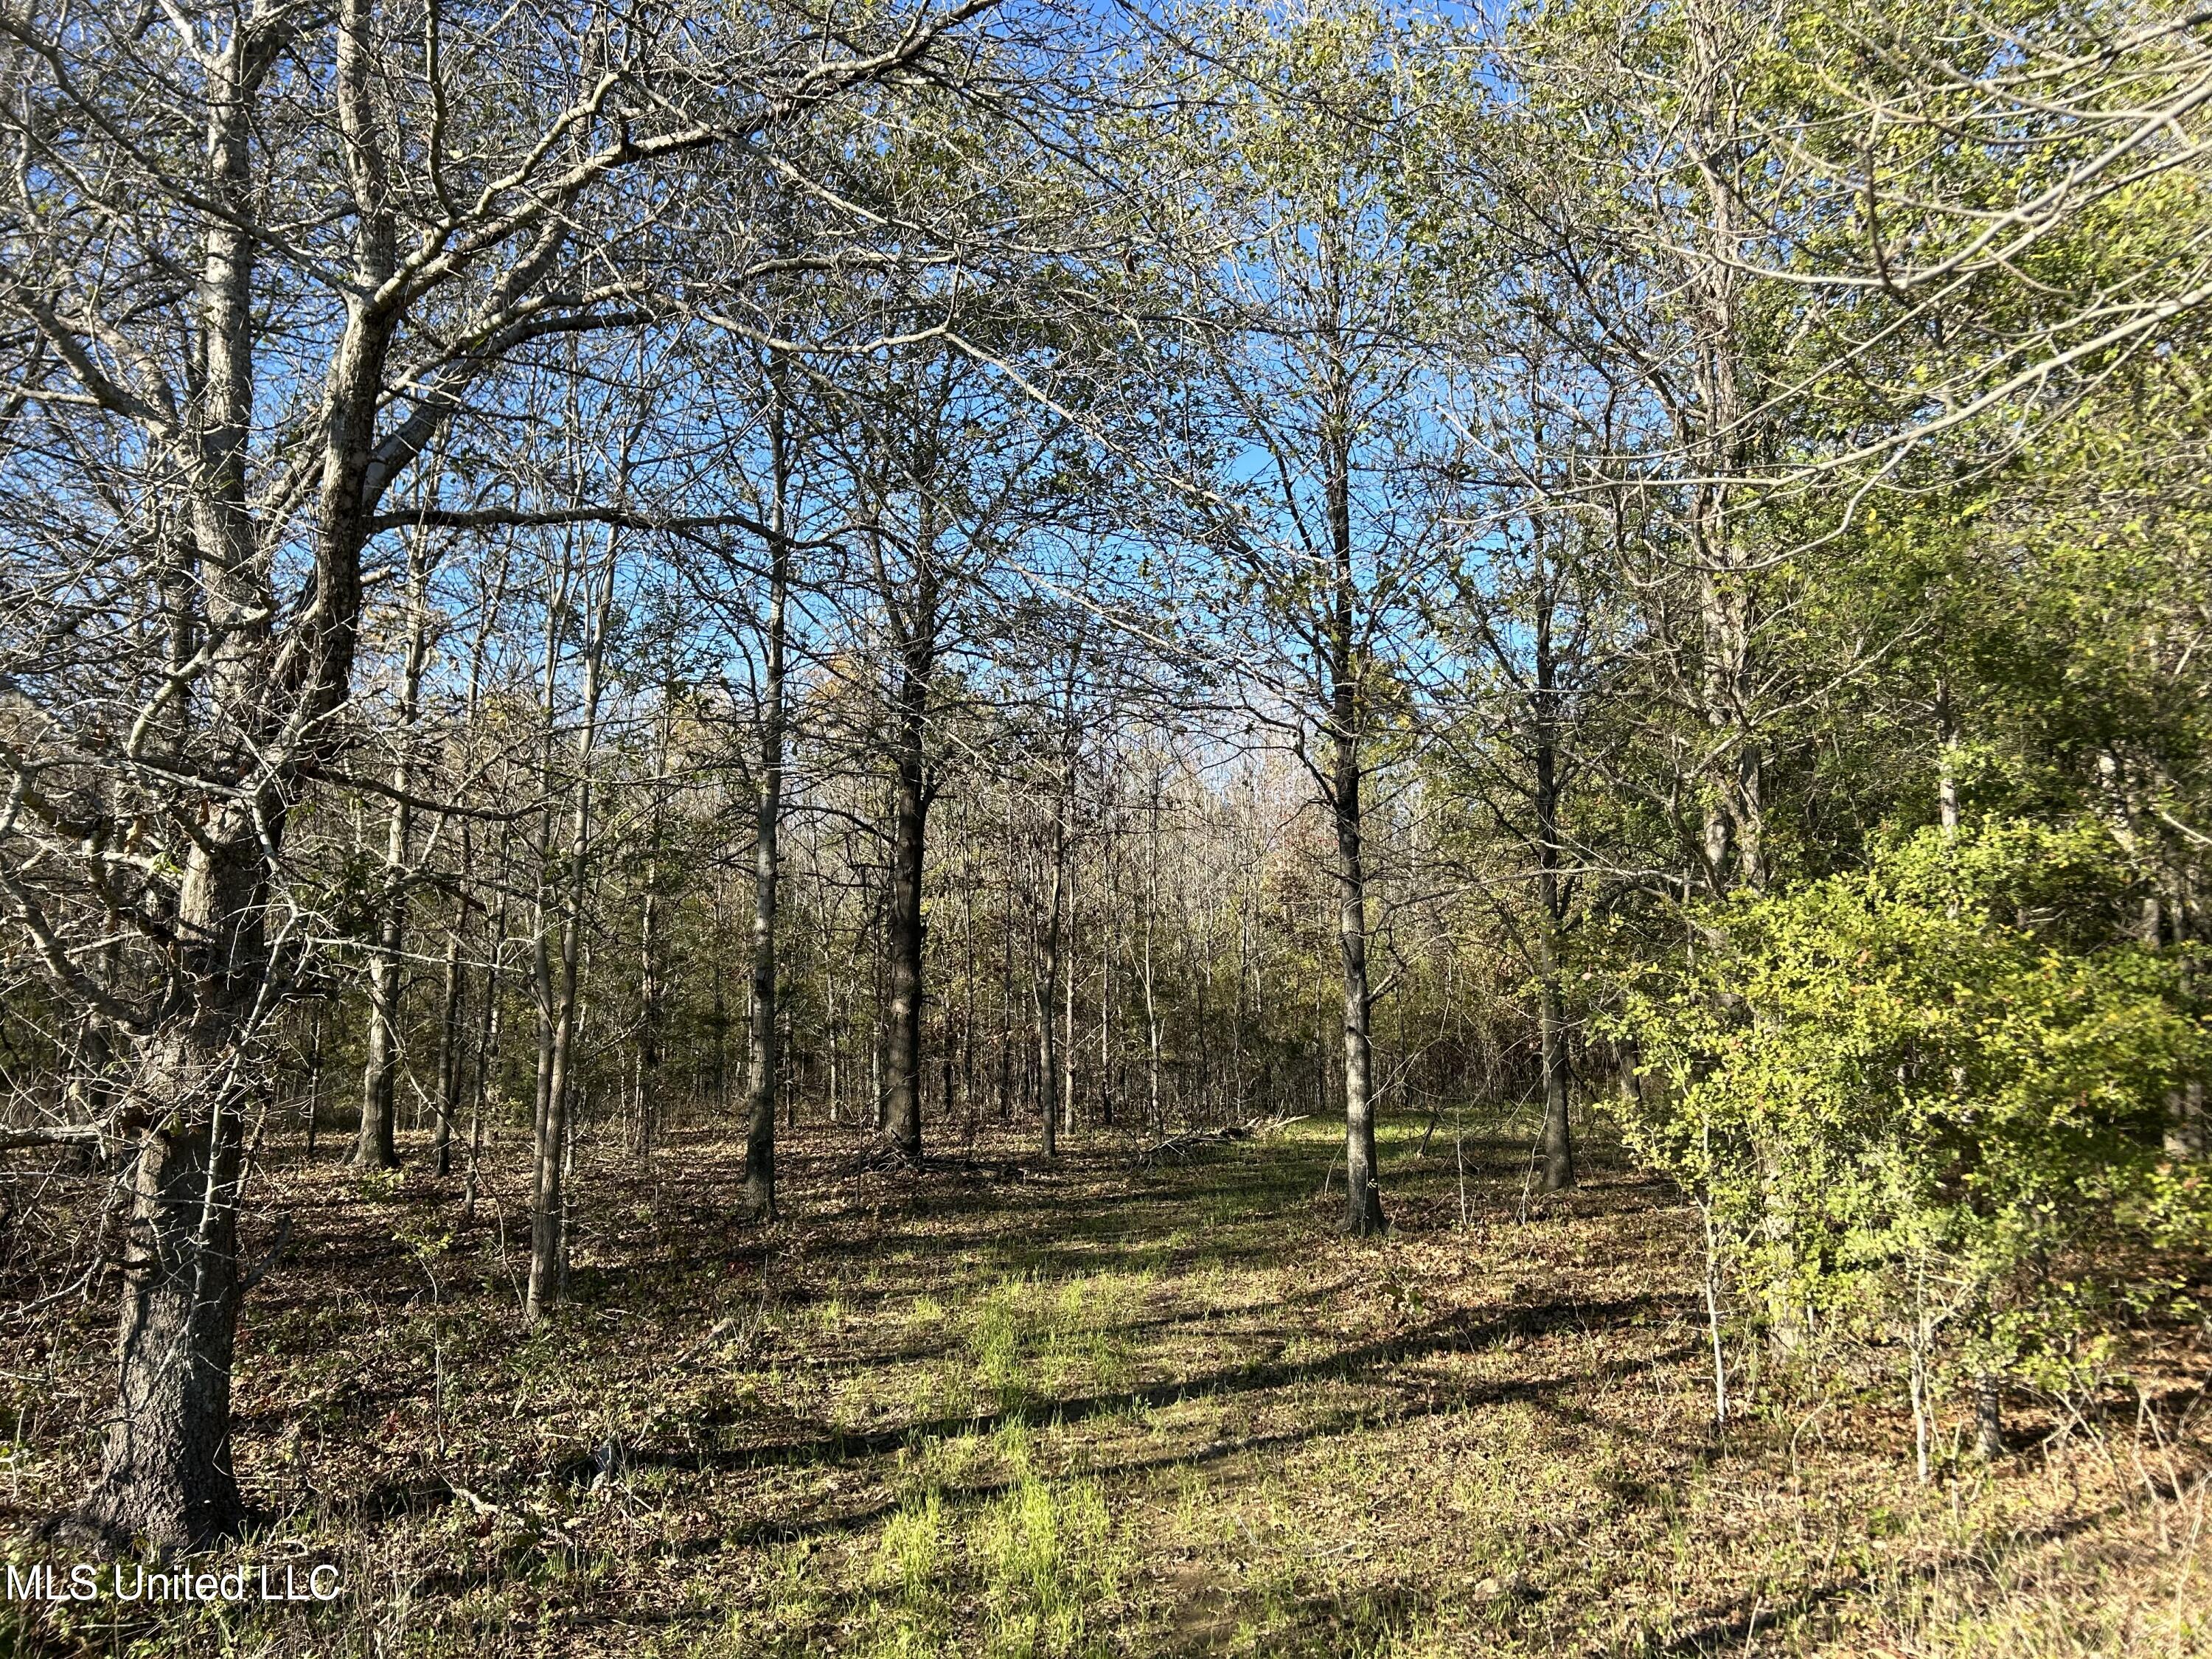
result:
M 1250 480 L 1225 484 L 1221 555 L 1256 728 L 1310 770 L 1334 843 L 1343 1006 L 1345 1230 L 1380 1232 L 1376 982 L 1367 818 L 1376 741 L 1400 701 L 1436 524 L 1413 509 L 1420 447 L 1418 265 L 1396 199 L 1411 69 L 1378 13 L 1316 7 L 1279 40 L 1225 42 L 1250 62 L 1223 86 L 1214 228 L 1225 252 L 1201 303 L 1223 442 Z

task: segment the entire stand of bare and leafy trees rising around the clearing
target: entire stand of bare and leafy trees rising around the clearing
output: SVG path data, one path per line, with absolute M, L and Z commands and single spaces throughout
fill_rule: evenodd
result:
M 1995 1438 L 2192 1307 L 2197 22 L 33 2 L 0 86 L 88 1528 L 237 1528 L 294 1133 L 522 1148 L 533 1318 L 580 1137 L 743 1135 L 765 1223 L 801 1117 L 1332 1113 L 1371 1232 L 1376 1113 L 1513 1102 L 1701 1203 L 1723 1413 Z

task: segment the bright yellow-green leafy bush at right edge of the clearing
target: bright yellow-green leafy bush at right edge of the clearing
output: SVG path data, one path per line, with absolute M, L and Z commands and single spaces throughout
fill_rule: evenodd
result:
M 1927 830 L 1871 867 L 1692 916 L 1619 1026 L 1635 1148 L 1708 1208 L 1783 1345 L 1944 1383 L 2070 1387 L 2185 1305 L 2212 1237 L 2168 1113 L 2205 1068 L 2190 960 L 2130 938 L 2095 825 Z

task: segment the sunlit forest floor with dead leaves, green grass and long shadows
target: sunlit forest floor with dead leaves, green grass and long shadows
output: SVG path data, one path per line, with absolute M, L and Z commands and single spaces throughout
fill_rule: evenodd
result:
M 770 1230 L 730 1219 L 734 1144 L 608 1150 L 531 1334 L 513 1148 L 473 1225 L 420 1144 L 405 1177 L 290 1148 L 241 1336 L 243 1555 L 338 1562 L 345 1595 L 0 1604 L 0 1650 L 2212 1652 L 2183 1391 L 2017 1416 L 2000 1469 L 1944 1444 L 1931 1486 L 1902 1402 L 1719 1431 L 1694 1217 L 1601 1157 L 1531 1197 L 1526 1141 L 1422 1128 L 1385 1130 L 1369 1243 L 1334 1232 L 1321 1121 L 922 1177 L 801 1130 Z M 11 1540 L 84 1478 L 102 1325 L 7 1365 Z

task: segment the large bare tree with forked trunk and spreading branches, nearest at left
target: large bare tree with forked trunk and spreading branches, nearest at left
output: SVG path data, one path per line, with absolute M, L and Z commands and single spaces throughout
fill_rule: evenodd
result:
M 27 595 L 0 894 L 133 1055 L 106 1124 L 135 1139 L 133 1221 L 91 1528 L 239 1524 L 241 1113 L 314 931 L 285 825 L 338 774 L 363 551 L 436 522 L 400 482 L 502 363 L 650 303 L 619 265 L 666 206 L 626 177 L 880 82 L 987 4 L 858 46 L 761 13 L 586 9 L 518 35 L 453 0 L 0 15 Z

